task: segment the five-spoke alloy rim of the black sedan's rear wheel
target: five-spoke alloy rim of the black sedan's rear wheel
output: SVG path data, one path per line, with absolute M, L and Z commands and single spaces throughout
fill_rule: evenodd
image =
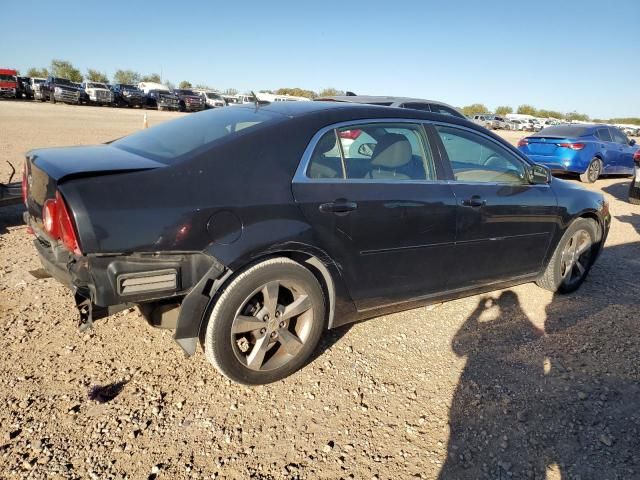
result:
M 271 281 L 256 289 L 231 325 L 236 358 L 247 368 L 279 368 L 300 352 L 314 322 L 310 296 L 295 282 Z

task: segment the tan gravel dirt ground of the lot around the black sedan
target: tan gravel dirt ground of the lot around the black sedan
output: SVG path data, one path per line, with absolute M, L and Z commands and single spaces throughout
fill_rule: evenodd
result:
M 148 111 L 151 125 L 180 114 Z M 0 162 L 104 142 L 139 110 L 0 103 Z M 512 142 L 518 133 L 507 132 Z M 0 178 L 9 169 L 0 166 Z M 576 293 L 534 284 L 329 332 L 276 384 L 225 380 L 135 311 L 80 334 L 20 208 L 0 211 L 2 478 L 640 478 L 640 207 L 629 180 Z

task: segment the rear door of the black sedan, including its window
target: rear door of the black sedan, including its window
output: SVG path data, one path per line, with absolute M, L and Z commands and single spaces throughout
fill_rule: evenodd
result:
M 395 120 L 325 128 L 294 177 L 296 202 L 358 310 L 447 288 L 456 203 L 425 133 Z

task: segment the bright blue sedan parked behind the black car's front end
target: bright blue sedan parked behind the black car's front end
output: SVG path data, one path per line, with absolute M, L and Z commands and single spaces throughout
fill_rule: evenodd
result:
M 600 175 L 633 175 L 638 151 L 618 128 L 608 125 L 555 125 L 518 142 L 518 148 L 553 173 L 573 173 L 586 183 Z

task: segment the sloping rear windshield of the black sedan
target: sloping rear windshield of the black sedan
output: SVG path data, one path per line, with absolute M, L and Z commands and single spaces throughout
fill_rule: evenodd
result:
M 223 137 L 240 136 L 286 117 L 255 108 L 221 108 L 194 113 L 141 130 L 111 145 L 165 164 Z

